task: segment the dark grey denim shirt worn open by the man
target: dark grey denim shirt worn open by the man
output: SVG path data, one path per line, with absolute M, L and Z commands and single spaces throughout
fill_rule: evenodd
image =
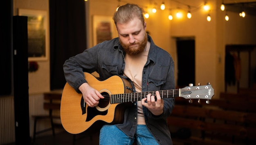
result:
M 142 92 L 175 89 L 174 62 L 168 52 L 159 48 L 148 35 L 150 50 L 148 60 L 142 71 Z M 69 58 L 63 65 L 67 82 L 78 92 L 79 86 L 87 82 L 83 72 L 97 71 L 100 78 L 105 80 L 113 75 L 122 76 L 124 72 L 124 51 L 115 38 L 104 41 L 83 53 Z M 164 99 L 162 115 L 153 115 L 143 106 L 143 113 L 148 130 L 153 134 L 160 145 L 172 145 L 171 135 L 167 125 L 167 117 L 174 107 L 173 98 Z M 137 126 L 137 102 L 126 109 L 124 123 L 116 124 L 131 139 L 134 137 Z

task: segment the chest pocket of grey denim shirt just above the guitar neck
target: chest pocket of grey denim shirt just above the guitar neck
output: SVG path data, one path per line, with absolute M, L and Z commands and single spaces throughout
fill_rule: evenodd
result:
M 148 91 L 159 91 L 162 90 L 162 87 L 166 80 L 159 78 L 148 78 Z

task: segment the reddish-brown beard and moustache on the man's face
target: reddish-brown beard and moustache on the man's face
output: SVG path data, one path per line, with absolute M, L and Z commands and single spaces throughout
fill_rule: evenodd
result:
M 136 55 L 140 52 L 145 51 L 147 41 L 148 41 L 148 36 L 145 33 L 145 37 L 141 42 L 135 42 L 133 44 L 128 44 L 128 45 L 124 44 L 120 39 L 119 39 L 119 41 L 120 41 L 122 47 L 124 48 L 124 52 L 126 52 L 127 54 L 130 54 L 130 55 Z M 135 45 L 135 44 L 137 46 L 132 46 L 132 45 Z

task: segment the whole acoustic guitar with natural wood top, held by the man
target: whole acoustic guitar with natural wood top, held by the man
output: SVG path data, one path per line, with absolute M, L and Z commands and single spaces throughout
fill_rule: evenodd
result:
M 112 76 L 107 80 L 99 80 L 92 74 L 84 73 L 88 84 L 99 91 L 104 99 L 99 105 L 89 107 L 81 93 L 77 93 L 68 83 L 65 84 L 61 97 L 61 123 L 71 134 L 78 134 L 93 126 L 103 123 L 122 123 L 125 109 L 132 102 L 141 101 L 149 93 L 155 91 L 133 93 L 130 81 Z M 185 99 L 206 99 L 208 102 L 214 95 L 210 84 L 205 86 L 189 86 L 182 89 L 161 90 L 162 98 L 183 97 Z M 99 123 L 99 125 L 97 124 Z

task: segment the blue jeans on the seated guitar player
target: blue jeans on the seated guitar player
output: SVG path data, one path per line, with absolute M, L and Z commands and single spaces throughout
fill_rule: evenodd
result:
M 99 145 L 159 145 L 146 125 L 137 125 L 133 139 L 130 139 L 124 132 L 115 125 L 104 125 L 99 135 Z

